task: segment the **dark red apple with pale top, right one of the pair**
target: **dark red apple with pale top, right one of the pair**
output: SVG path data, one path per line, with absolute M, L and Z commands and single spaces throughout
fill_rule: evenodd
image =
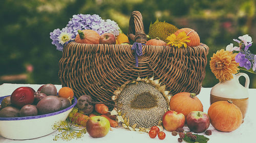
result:
M 202 111 L 191 111 L 188 113 L 186 121 L 187 127 L 195 133 L 206 131 L 210 125 L 209 116 Z

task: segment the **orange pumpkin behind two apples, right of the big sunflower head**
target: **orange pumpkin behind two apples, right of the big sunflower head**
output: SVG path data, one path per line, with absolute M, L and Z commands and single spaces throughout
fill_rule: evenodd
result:
M 170 110 L 183 113 L 185 118 L 191 111 L 203 111 L 203 105 L 196 97 L 196 94 L 188 92 L 181 92 L 174 95 L 170 99 L 169 106 Z

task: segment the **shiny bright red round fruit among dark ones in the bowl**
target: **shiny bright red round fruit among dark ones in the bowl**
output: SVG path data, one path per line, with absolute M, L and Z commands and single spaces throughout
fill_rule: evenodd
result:
M 17 107 L 23 107 L 34 102 L 34 90 L 29 87 L 20 87 L 13 91 L 11 103 Z

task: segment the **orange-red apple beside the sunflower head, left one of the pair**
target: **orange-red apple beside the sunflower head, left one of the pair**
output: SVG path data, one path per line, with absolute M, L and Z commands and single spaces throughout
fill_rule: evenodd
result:
M 169 110 L 163 115 L 163 127 L 167 131 L 175 131 L 182 128 L 185 124 L 185 116 L 174 110 Z

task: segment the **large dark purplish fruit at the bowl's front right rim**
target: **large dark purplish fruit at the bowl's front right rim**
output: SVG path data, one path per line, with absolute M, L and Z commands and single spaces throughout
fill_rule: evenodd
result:
M 42 98 L 36 105 L 39 115 L 59 111 L 62 107 L 62 102 L 57 96 L 47 96 Z

